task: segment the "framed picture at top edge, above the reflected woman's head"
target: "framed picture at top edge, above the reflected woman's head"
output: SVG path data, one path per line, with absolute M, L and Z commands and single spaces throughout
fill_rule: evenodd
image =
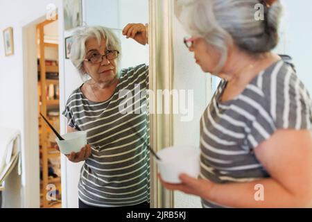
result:
M 68 31 L 83 24 L 81 0 L 64 0 L 64 29 Z

